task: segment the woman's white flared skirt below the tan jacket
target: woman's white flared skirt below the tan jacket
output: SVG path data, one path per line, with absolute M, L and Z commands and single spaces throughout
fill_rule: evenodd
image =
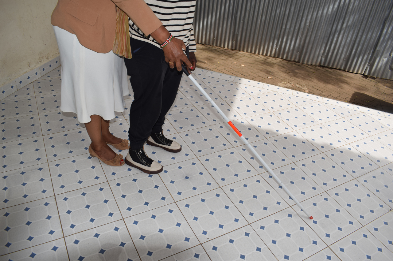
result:
M 97 114 L 105 120 L 123 112 L 123 95 L 129 94 L 127 68 L 123 58 L 112 51 L 96 53 L 81 45 L 75 34 L 53 26 L 62 65 L 61 106 L 74 112 L 78 121 L 90 121 Z

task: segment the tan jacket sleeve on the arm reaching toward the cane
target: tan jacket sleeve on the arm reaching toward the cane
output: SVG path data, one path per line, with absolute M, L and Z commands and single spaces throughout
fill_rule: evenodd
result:
M 160 19 L 153 13 L 143 0 L 111 0 L 148 36 L 162 25 Z

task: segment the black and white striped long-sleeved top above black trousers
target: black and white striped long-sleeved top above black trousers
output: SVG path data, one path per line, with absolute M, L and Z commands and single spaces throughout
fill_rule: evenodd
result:
M 196 51 L 193 20 L 196 0 L 144 0 L 174 37 L 183 40 L 190 52 Z M 129 19 L 130 37 L 149 42 L 158 48 L 160 45 L 149 35 L 148 38 Z

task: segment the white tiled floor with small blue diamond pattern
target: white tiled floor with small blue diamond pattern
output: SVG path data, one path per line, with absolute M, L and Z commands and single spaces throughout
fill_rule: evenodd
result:
M 0 101 L 0 260 L 393 260 L 393 115 L 194 76 L 313 220 L 186 77 L 164 125 L 183 150 L 145 145 L 162 173 L 91 158 L 59 70 Z

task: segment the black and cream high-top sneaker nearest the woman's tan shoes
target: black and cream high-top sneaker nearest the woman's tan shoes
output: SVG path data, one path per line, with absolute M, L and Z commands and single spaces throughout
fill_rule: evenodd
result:
M 149 158 L 145 150 L 142 148 L 140 150 L 130 150 L 125 157 L 125 163 L 131 167 L 142 170 L 147 174 L 157 174 L 162 171 L 162 165 L 157 161 Z

